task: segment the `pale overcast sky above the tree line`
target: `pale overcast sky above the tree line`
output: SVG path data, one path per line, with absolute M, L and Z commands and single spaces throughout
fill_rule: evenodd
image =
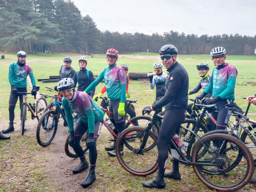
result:
M 74 0 L 101 31 L 256 35 L 256 0 Z

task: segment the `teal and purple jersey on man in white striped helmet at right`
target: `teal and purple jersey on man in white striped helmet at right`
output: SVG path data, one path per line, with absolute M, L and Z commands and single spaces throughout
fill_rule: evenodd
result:
M 212 71 L 210 84 L 204 90 L 205 93 L 212 93 L 212 97 L 220 96 L 221 99 L 235 100 L 235 84 L 237 70 L 234 66 L 224 63 L 215 67 Z

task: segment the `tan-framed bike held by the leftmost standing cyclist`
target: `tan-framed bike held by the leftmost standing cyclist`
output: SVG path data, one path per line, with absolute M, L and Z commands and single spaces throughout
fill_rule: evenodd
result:
M 36 91 L 39 91 L 40 85 L 36 86 Z M 21 103 L 21 111 L 20 111 L 20 120 L 21 120 L 21 135 L 24 134 L 25 131 L 25 121 L 27 120 L 27 107 L 28 111 L 31 113 L 31 119 L 37 118 L 39 121 L 39 117 L 44 113 L 44 110 L 47 106 L 47 102 L 45 98 L 40 97 L 39 99 L 36 96 L 27 96 L 27 92 L 19 92 L 19 94 L 23 94 L 23 102 Z M 27 98 L 34 98 L 35 101 L 33 104 L 27 102 Z

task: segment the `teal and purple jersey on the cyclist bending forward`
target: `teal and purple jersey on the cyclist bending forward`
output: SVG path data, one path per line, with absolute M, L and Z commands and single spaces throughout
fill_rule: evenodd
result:
M 88 124 L 89 133 L 94 133 L 94 122 L 101 121 L 104 117 L 103 111 L 87 93 L 82 91 L 74 92 L 72 101 L 63 98 L 62 105 L 67 116 L 69 131 L 74 131 L 73 113 L 76 113 L 84 123 Z

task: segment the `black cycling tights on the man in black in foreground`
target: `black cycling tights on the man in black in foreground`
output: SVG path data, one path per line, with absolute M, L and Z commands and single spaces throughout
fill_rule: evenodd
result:
M 184 122 L 185 118 L 186 109 L 165 109 L 163 123 L 157 140 L 159 167 L 166 167 L 168 159 L 168 145 L 173 135 L 175 133 L 179 133 L 179 125 Z

